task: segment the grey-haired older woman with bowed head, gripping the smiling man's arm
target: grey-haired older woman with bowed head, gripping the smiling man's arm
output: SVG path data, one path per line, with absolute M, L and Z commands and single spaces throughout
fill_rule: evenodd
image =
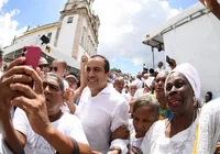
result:
M 128 139 L 130 133 L 130 154 L 140 152 L 145 133 L 151 125 L 158 120 L 160 116 L 158 101 L 151 95 L 143 95 L 134 99 L 132 110 L 132 120 L 130 121 L 129 130 L 127 127 L 120 127 L 112 133 L 112 139 Z

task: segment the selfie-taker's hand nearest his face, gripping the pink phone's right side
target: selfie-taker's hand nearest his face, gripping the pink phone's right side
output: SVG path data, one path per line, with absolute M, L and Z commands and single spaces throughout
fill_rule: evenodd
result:
M 29 119 L 32 130 L 43 135 L 48 129 L 51 123 L 47 116 L 46 101 L 40 70 L 35 72 L 28 66 L 23 67 L 23 74 L 30 76 L 34 81 L 34 87 L 30 87 L 22 82 L 14 82 L 10 85 L 11 90 L 22 92 L 23 96 L 18 96 L 11 100 L 13 106 L 21 108 Z

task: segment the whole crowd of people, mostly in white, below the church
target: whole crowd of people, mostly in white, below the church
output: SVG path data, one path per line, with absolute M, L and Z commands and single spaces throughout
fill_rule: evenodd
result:
M 220 154 L 220 98 L 201 101 L 196 68 L 166 62 L 112 77 L 105 56 L 84 55 L 78 77 L 63 59 L 2 66 L 0 52 L 0 153 Z

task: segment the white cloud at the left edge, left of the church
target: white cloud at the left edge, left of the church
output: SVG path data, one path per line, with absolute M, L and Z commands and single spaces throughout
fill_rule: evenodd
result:
M 10 45 L 15 35 L 20 36 L 26 30 L 26 28 L 18 30 L 19 23 L 12 19 L 20 13 L 19 10 L 2 11 L 2 7 L 7 2 L 8 0 L 0 0 L 0 47 Z

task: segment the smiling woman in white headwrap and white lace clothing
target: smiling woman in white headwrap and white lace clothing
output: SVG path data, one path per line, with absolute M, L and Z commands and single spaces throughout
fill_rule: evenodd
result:
M 201 111 L 194 108 L 200 98 L 197 70 L 189 64 L 177 66 L 166 79 L 165 92 L 174 117 L 151 127 L 141 145 L 142 152 L 212 154 L 220 138 L 220 103 L 210 102 Z

